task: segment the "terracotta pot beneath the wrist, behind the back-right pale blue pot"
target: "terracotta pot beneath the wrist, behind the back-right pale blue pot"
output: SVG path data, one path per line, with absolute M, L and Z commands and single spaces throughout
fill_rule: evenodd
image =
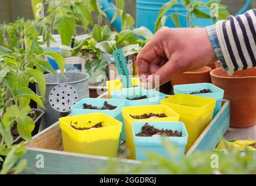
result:
M 211 70 L 210 67 L 205 66 L 199 70 L 184 72 L 172 80 L 172 86 L 191 83 L 211 83 Z

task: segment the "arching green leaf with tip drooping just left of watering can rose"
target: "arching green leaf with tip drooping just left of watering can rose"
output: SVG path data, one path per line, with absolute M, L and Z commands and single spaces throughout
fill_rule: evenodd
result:
M 15 91 L 14 98 L 17 99 L 20 97 L 33 99 L 39 106 L 44 108 L 44 104 L 42 103 L 41 98 L 27 87 L 22 87 Z

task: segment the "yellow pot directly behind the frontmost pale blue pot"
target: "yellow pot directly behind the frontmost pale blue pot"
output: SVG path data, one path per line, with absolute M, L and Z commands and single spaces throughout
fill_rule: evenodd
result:
M 165 113 L 168 117 L 154 119 L 133 119 L 130 115 L 143 115 L 144 113 Z M 165 105 L 149 105 L 149 106 L 130 106 L 122 109 L 123 119 L 125 121 L 126 144 L 128 149 L 128 158 L 136 159 L 135 145 L 133 141 L 133 122 L 135 121 L 179 121 L 179 115 Z

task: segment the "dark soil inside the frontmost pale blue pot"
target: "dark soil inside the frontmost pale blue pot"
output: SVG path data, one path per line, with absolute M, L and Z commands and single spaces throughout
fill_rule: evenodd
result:
M 152 137 L 152 135 L 166 135 L 167 137 L 182 137 L 182 132 L 173 131 L 173 130 L 159 130 L 154 128 L 154 126 L 149 126 L 148 123 L 145 123 L 143 127 L 141 127 L 141 133 L 136 134 L 139 137 Z

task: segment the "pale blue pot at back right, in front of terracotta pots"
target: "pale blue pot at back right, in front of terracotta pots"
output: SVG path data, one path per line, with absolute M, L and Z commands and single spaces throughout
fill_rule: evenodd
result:
M 197 96 L 202 96 L 206 98 L 216 99 L 216 106 L 214 109 L 214 116 L 221 110 L 221 103 L 224 96 L 224 90 L 211 83 L 195 83 L 195 84 L 184 84 L 184 85 L 175 85 L 173 86 L 174 94 L 190 94 L 191 92 L 198 92 L 204 89 L 209 89 L 212 93 L 205 94 L 193 94 Z

